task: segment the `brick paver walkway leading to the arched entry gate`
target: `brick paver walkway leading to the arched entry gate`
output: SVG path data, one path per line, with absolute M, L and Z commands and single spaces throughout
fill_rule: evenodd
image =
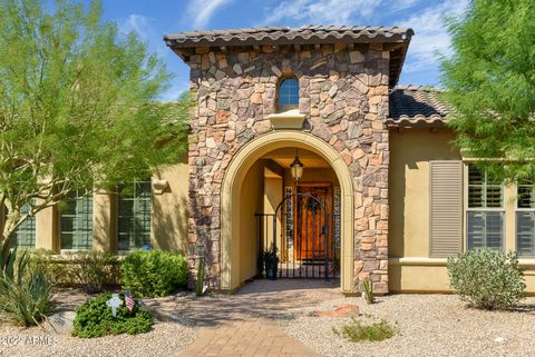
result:
M 178 304 L 175 314 L 201 326 L 181 357 L 319 357 L 276 325 L 289 310 L 339 295 L 333 282 L 257 280 L 236 295 Z

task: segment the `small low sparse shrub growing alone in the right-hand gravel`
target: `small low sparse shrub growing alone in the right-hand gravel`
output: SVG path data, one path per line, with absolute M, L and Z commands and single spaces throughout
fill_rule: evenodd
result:
M 356 318 L 351 323 L 342 326 L 340 329 L 333 328 L 334 334 L 349 339 L 352 343 L 359 341 L 382 341 L 391 338 L 396 334 L 396 329 L 388 325 L 386 320 L 363 325 Z

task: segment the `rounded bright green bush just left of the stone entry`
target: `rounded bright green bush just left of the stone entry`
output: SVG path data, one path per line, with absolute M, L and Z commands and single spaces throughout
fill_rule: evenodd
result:
M 186 259 L 171 251 L 133 251 L 123 262 L 121 281 L 126 289 L 142 296 L 169 295 L 187 284 Z

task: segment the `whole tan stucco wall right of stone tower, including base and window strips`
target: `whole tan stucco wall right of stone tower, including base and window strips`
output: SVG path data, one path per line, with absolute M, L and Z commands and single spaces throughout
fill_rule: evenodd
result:
M 441 129 L 390 132 L 389 171 L 389 288 L 392 292 L 450 291 L 446 259 L 429 258 L 429 161 L 460 160 L 451 148 L 454 133 Z M 507 197 L 514 190 L 506 188 Z M 514 205 L 512 200 L 507 205 Z M 515 216 L 506 215 L 506 248 L 515 249 Z M 466 239 L 466 238 L 465 238 Z M 535 260 L 521 259 L 526 268 L 526 291 L 535 294 Z

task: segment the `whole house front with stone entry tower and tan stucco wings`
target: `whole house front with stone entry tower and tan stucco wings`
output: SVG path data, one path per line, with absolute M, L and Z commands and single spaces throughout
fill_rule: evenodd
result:
M 396 87 L 412 34 L 309 26 L 166 36 L 191 68 L 187 158 L 134 182 L 134 194 L 97 192 L 90 212 L 80 208 L 85 236 L 75 204 L 81 228 L 50 208 L 20 241 L 31 246 L 33 230 L 33 245 L 56 251 L 69 241 L 178 250 L 192 277 L 204 258 L 210 287 L 227 291 L 269 276 L 272 260 L 280 278 L 339 278 L 346 294 L 364 278 L 378 294 L 448 291 L 447 257 L 513 249 L 535 292 L 533 187 L 492 182 L 470 165 L 451 145 L 438 90 Z

